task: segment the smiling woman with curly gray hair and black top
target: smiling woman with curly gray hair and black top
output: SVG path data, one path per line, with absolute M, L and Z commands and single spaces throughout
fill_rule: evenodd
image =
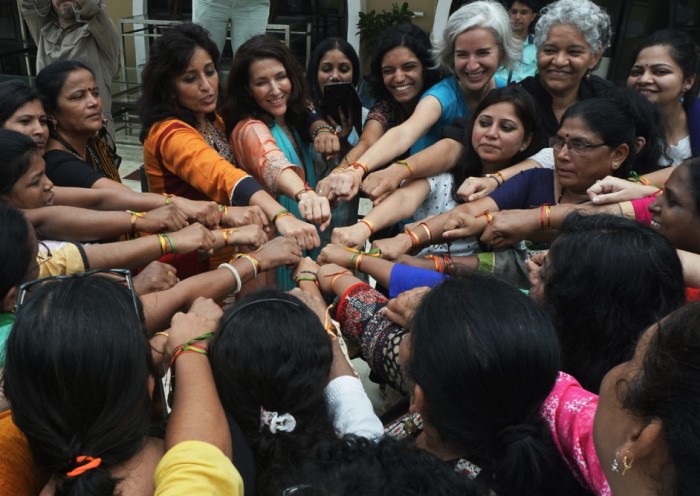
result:
M 520 84 L 535 97 L 547 136 L 571 105 L 613 86 L 591 74 L 611 36 L 610 16 L 590 0 L 559 0 L 542 10 L 535 27 L 538 74 Z

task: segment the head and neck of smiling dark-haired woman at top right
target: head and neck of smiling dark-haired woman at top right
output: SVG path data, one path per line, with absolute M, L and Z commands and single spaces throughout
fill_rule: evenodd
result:
M 635 54 L 627 86 L 656 105 L 662 116 L 665 150 L 660 165 L 677 165 L 691 150 L 689 109 L 698 95 L 696 45 L 686 35 L 665 29 L 647 36 Z

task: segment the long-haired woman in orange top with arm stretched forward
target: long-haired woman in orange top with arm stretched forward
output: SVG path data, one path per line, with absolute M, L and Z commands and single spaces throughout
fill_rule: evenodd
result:
M 299 246 L 318 246 L 313 226 L 287 215 L 255 179 L 233 164 L 223 121 L 216 113 L 218 64 L 216 45 L 196 24 L 174 26 L 153 43 L 143 70 L 140 106 L 149 189 L 259 207 L 268 222 Z M 313 212 L 308 218 L 317 220 Z

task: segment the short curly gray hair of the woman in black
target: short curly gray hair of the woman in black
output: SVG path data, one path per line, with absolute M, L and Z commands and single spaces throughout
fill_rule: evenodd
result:
M 547 39 L 550 29 L 560 24 L 576 28 L 596 55 L 602 54 L 610 45 L 610 16 L 590 0 L 559 0 L 542 9 L 535 26 L 538 49 Z

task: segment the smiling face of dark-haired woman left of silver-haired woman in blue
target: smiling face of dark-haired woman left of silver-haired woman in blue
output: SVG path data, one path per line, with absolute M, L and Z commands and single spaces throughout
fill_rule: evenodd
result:
M 396 47 L 382 58 L 382 79 L 394 100 L 412 102 L 423 90 L 423 64 L 412 50 Z

